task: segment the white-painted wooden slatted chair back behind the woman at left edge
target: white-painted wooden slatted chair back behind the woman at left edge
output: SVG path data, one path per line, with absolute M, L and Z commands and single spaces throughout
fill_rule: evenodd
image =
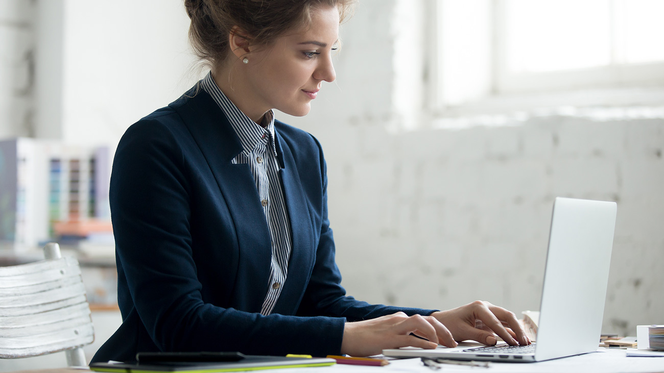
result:
M 45 260 L 0 267 L 0 358 L 64 350 L 68 366 L 87 366 L 82 346 L 94 341 L 90 306 L 78 260 L 58 244 Z

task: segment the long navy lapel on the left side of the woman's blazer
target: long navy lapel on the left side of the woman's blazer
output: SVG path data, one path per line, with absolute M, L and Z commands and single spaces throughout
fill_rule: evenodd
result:
M 226 285 L 235 288 L 231 303 L 243 311 L 260 312 L 270 279 L 270 230 L 249 166 L 231 163 L 242 151 L 240 139 L 212 97 L 201 88 L 193 90 L 171 107 L 199 145 L 235 223 L 238 248 L 219 248 L 238 250 L 236 283 Z

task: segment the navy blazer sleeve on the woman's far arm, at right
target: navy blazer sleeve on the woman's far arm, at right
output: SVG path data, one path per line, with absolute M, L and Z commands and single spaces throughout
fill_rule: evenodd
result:
M 319 159 L 317 167 L 320 169 L 323 191 L 322 205 L 320 206 L 321 225 L 315 264 L 297 315 L 324 315 L 345 317 L 347 321 L 362 321 L 391 315 L 399 311 L 409 316 L 430 315 L 438 311 L 434 309 L 371 305 L 346 295 L 346 290 L 341 286 L 341 272 L 335 262 L 335 243 L 327 216 L 327 164 L 320 143 L 315 137 L 311 137 L 317 146 L 318 157 L 316 158 Z

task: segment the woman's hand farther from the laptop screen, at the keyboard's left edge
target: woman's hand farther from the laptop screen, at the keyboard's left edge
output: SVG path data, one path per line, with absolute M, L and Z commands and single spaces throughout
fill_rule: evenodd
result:
M 416 336 L 422 338 L 417 338 Z M 384 348 L 414 346 L 436 348 L 438 344 L 456 347 L 452 334 L 435 317 L 408 316 L 398 312 L 367 321 L 346 323 L 341 353 L 351 356 L 380 354 Z

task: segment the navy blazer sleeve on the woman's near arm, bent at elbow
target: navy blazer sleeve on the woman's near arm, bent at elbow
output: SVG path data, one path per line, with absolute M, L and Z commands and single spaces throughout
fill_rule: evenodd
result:
M 181 136 L 162 122 L 143 119 L 131 126 L 114 159 L 110 205 L 119 277 L 127 289 L 119 294 L 123 319 L 137 313 L 162 351 L 339 354 L 344 319 L 264 316 L 203 301 L 190 226 L 196 175 L 188 174 Z

